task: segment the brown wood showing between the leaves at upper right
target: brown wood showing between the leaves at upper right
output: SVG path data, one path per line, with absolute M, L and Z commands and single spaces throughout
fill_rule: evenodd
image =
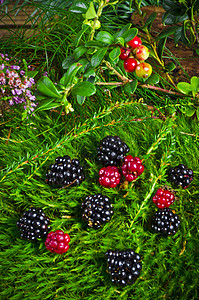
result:
M 162 16 L 165 13 L 164 9 L 162 7 L 156 7 L 156 6 L 145 6 L 142 8 L 142 11 L 146 14 L 145 20 L 153 13 L 157 12 L 156 19 L 152 25 L 151 33 L 154 37 L 156 37 L 159 33 L 161 33 L 164 29 L 169 27 L 169 25 L 165 26 L 162 24 Z M 137 14 L 132 15 L 132 23 L 133 25 L 141 26 L 140 17 Z M 182 43 L 179 43 L 177 46 L 175 46 L 174 40 L 172 36 L 170 36 L 167 39 L 166 42 L 166 48 L 168 48 L 171 53 L 178 59 L 181 66 L 184 68 L 184 70 L 187 72 L 187 74 L 192 76 L 199 76 L 198 71 L 198 65 L 199 65 L 199 56 L 196 54 L 195 49 L 197 48 L 197 45 L 193 45 L 192 48 L 188 47 L 187 45 L 184 45 Z M 166 53 L 164 52 L 164 55 L 166 56 Z M 171 59 L 164 58 L 163 59 L 165 64 L 167 64 L 169 61 L 172 61 Z M 174 62 L 174 61 L 173 61 Z M 186 75 L 184 74 L 182 68 L 179 66 L 174 69 L 174 71 L 171 73 L 171 77 L 173 81 L 177 84 L 180 81 L 186 81 L 189 82 Z

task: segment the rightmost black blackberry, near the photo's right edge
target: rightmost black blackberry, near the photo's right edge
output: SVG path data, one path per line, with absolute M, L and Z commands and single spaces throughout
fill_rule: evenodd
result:
M 186 189 L 193 180 L 193 171 L 188 169 L 185 165 L 179 164 L 169 170 L 169 181 L 175 186 L 182 186 Z

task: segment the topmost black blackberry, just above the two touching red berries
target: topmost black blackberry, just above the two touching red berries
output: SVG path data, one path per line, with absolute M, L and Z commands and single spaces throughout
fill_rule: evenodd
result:
M 119 136 L 108 135 L 101 140 L 98 150 L 99 161 L 105 166 L 119 166 L 129 147 L 124 143 Z

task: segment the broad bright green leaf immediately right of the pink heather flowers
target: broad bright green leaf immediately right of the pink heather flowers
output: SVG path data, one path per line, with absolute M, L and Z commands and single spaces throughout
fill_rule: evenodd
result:
M 60 98 L 60 94 L 55 86 L 55 84 L 50 80 L 50 78 L 43 76 L 37 82 L 37 89 L 42 94 L 49 96 Z

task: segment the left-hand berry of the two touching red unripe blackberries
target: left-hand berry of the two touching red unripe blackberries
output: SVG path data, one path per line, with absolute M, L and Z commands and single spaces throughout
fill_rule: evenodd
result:
M 121 174 L 115 166 L 104 167 L 99 171 L 99 183 L 103 187 L 114 188 L 120 183 Z

